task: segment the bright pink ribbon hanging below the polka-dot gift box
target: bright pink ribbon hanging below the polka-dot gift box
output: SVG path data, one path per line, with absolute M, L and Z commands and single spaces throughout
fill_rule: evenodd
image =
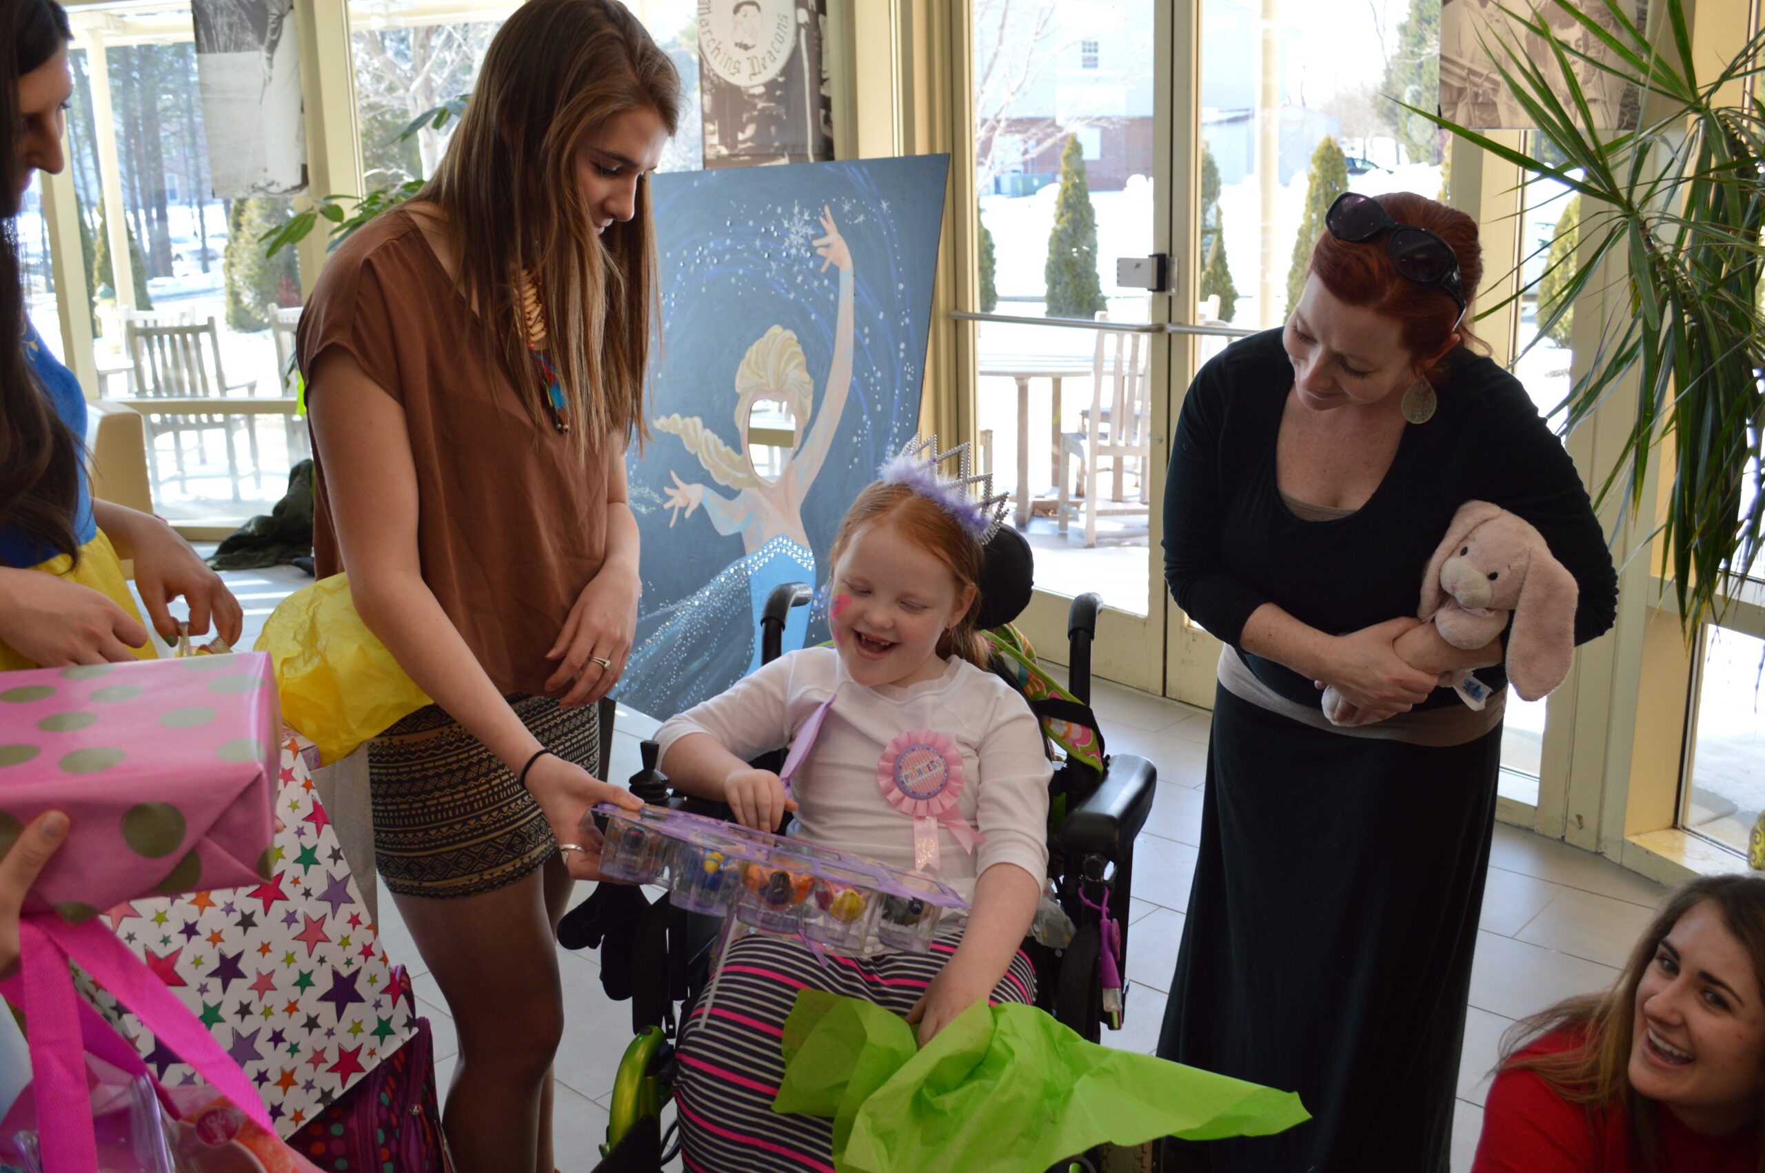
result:
M 74 993 L 69 960 L 78 961 L 210 1087 L 275 1134 L 258 1090 L 238 1064 L 102 923 L 69 924 L 44 912 L 21 917 L 18 937 L 19 974 L 0 982 L 0 990 L 25 1009 L 37 1129 L 48 1173 L 90 1173 L 99 1164 L 85 1053 L 90 1050 L 131 1074 L 146 1071 L 132 1048 L 122 1044 Z

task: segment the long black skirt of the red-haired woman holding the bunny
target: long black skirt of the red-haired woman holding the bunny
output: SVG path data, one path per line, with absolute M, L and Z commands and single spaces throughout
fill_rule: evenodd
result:
M 1311 1120 L 1195 1145 L 1216 1173 L 1446 1173 L 1502 730 L 1428 748 L 1223 688 L 1158 1053 Z

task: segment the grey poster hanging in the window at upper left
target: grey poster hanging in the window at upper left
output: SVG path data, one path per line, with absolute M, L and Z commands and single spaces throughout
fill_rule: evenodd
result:
M 214 194 L 304 192 L 307 125 L 293 0 L 192 0 L 191 12 Z

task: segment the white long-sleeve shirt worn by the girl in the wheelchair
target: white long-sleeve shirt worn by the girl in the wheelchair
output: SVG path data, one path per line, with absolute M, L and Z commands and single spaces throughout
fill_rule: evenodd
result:
M 897 688 L 858 684 L 831 647 L 780 656 L 657 730 L 662 758 L 687 734 L 710 734 L 740 758 L 780 750 L 838 688 L 821 734 L 791 780 L 792 836 L 913 870 L 913 818 L 877 783 L 877 764 L 900 734 L 930 728 L 962 753 L 958 810 L 987 838 L 969 854 L 939 827 L 937 875 L 967 887 L 995 863 L 1041 880 L 1048 866 L 1048 776 L 1036 716 L 1010 684 L 962 658 L 943 676 Z

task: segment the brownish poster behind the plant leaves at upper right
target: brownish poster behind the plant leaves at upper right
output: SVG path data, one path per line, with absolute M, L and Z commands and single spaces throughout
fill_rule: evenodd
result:
M 1608 32 L 1617 32 L 1617 21 L 1601 0 L 1580 0 L 1576 5 L 1585 16 L 1596 19 Z M 1539 5 L 1537 16 L 1550 30 L 1564 39 L 1571 48 L 1597 60 L 1615 62 L 1611 51 L 1581 26 L 1573 14 L 1555 5 Z M 1634 21 L 1638 28 L 1647 28 L 1647 0 L 1638 0 Z M 1502 58 L 1502 42 L 1518 48 L 1528 60 L 1555 79 L 1558 101 L 1569 109 L 1574 104 L 1569 90 L 1562 83 L 1557 65 L 1550 64 L 1550 51 L 1544 42 L 1523 25 L 1513 21 L 1500 0 L 1440 0 L 1440 116 L 1472 131 L 1530 131 L 1532 120 L 1514 101 L 1502 81 L 1497 62 Z M 1641 95 L 1636 86 L 1627 85 L 1603 69 L 1574 58 L 1574 79 L 1587 99 L 1588 113 L 1594 118 L 1592 131 L 1622 131 L 1636 127 L 1636 115 L 1641 109 Z

